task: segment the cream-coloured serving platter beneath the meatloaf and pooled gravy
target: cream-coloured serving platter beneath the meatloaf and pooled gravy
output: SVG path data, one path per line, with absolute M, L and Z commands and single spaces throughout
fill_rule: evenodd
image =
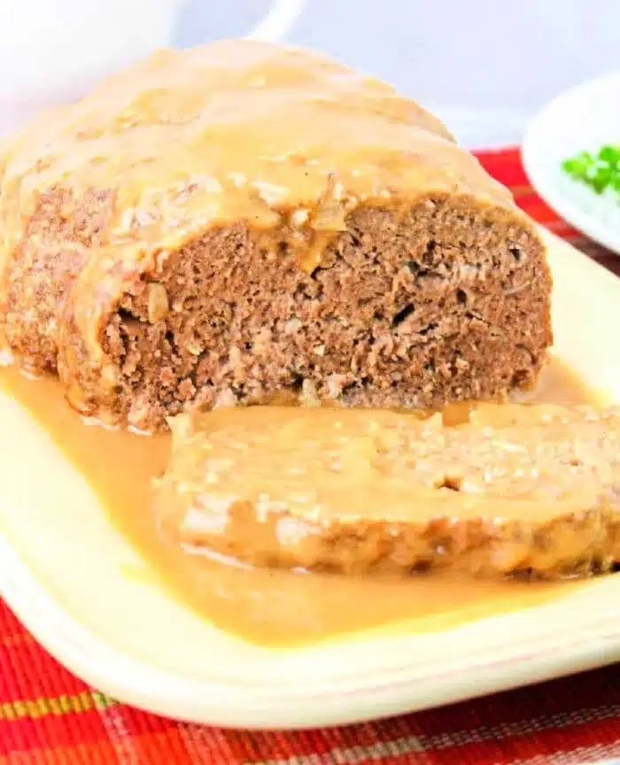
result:
M 620 280 L 557 240 L 556 352 L 620 401 Z M 217 630 L 157 584 L 32 416 L 0 395 L 0 589 L 90 684 L 163 715 L 311 727 L 431 707 L 620 659 L 620 576 L 543 606 L 434 632 L 360 632 L 267 649 Z M 33 480 L 33 475 L 36 480 Z M 43 487 L 43 488 L 42 488 Z

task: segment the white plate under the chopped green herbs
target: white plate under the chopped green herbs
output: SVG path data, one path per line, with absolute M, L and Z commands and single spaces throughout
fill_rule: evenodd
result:
M 563 159 L 603 143 L 620 143 L 620 72 L 567 90 L 539 112 L 523 140 L 523 165 L 562 218 L 620 253 L 620 204 L 571 181 L 561 167 Z

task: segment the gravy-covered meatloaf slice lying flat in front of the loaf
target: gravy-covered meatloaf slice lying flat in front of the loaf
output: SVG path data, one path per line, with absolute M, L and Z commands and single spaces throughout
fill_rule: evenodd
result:
M 181 415 L 155 486 L 166 537 L 260 566 L 541 577 L 620 555 L 620 409 Z

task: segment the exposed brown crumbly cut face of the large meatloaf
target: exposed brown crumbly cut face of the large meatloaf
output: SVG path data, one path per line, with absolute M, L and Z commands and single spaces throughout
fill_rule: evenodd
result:
M 352 213 L 311 273 L 290 232 L 266 246 L 242 225 L 221 228 L 112 314 L 107 408 L 155 429 L 190 402 L 430 409 L 504 398 L 537 379 L 549 289 L 538 238 L 466 201 Z

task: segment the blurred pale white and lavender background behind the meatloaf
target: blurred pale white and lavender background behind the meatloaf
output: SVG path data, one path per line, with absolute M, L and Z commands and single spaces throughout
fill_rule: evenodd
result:
M 0 134 L 153 48 L 248 35 L 273 2 L 0 0 Z M 555 93 L 620 70 L 620 0 L 278 2 L 305 6 L 285 40 L 391 81 L 469 146 L 519 141 Z

